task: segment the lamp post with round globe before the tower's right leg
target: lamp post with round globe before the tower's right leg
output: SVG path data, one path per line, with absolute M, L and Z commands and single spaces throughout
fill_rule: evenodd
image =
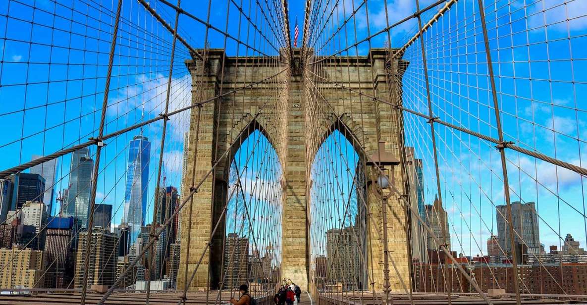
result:
M 391 291 L 391 284 L 389 282 L 389 257 L 387 257 L 389 252 L 387 247 L 387 199 L 393 194 L 390 189 L 390 184 L 393 184 L 395 181 L 393 168 L 399 164 L 400 161 L 396 156 L 385 150 L 384 141 L 379 141 L 377 151 L 367 156 L 366 162 L 366 165 L 372 167 L 371 184 L 374 185 L 374 193 L 377 198 L 381 199 L 383 218 L 383 277 L 385 280 L 383 292 L 385 293 L 386 304 L 389 304 L 389 293 Z

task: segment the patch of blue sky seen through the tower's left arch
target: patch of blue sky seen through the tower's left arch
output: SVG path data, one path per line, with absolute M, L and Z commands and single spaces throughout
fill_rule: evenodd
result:
M 242 141 L 231 164 L 225 233 L 248 238 L 249 252 L 258 250 L 261 257 L 269 249 L 281 253 L 281 179 L 281 162 L 274 147 L 259 130 L 253 131 Z M 276 255 L 273 263 L 277 266 L 280 259 Z

